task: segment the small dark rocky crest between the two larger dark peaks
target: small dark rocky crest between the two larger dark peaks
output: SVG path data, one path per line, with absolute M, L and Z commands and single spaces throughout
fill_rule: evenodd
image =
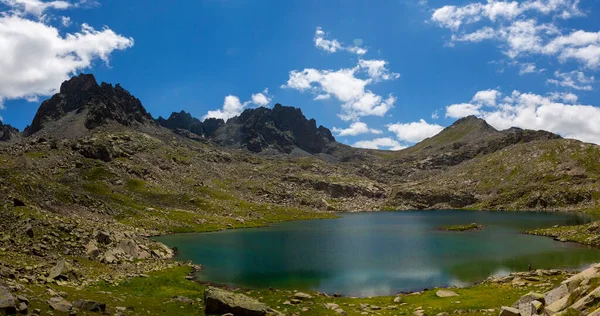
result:
M 201 122 L 199 119 L 192 117 L 190 113 L 185 111 L 181 112 L 173 112 L 168 119 L 164 119 L 163 117 L 159 117 L 157 120 L 158 124 L 164 126 L 168 129 L 176 130 L 188 130 L 196 135 L 205 137 L 210 137 L 212 134 L 225 124 L 225 121 L 222 119 L 209 118 L 204 122 Z M 182 134 L 178 132 L 178 134 Z

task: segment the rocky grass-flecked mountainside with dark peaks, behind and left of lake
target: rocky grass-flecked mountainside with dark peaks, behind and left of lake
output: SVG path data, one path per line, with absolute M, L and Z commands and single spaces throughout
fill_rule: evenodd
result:
M 24 133 L 0 124 L 0 162 L 0 280 L 42 292 L 187 271 L 147 238 L 161 234 L 345 211 L 600 209 L 600 147 L 552 133 L 467 117 L 402 151 L 357 149 L 282 105 L 154 120 L 91 75 L 65 82 Z

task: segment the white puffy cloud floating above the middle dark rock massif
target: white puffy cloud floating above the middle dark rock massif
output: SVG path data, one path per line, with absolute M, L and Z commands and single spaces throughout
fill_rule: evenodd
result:
M 384 116 L 394 107 L 396 98 L 386 98 L 367 89 L 368 85 L 394 80 L 398 74 L 390 72 L 385 66 L 387 62 L 380 60 L 359 60 L 354 68 L 343 68 L 336 71 L 307 68 L 303 71 L 293 70 L 282 88 L 298 91 L 310 91 L 315 100 L 334 97 L 342 102 L 342 113 L 339 117 L 345 121 L 357 120 L 363 116 Z M 366 77 L 365 77 L 366 75 Z

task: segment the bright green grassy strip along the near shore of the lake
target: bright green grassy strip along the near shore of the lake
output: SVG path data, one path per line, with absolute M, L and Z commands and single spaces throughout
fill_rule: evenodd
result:
M 84 289 L 74 289 L 53 285 L 55 291 L 65 292 L 71 301 L 76 299 L 92 299 L 105 302 L 109 312 L 115 312 L 117 306 L 133 307 L 131 314 L 137 315 L 204 315 L 202 302 L 205 286 L 185 279 L 189 273 L 188 267 L 176 267 L 150 274 L 148 277 L 136 277 L 118 285 L 100 282 Z M 410 315 L 417 307 L 423 307 L 428 315 L 441 312 L 452 313 L 462 309 L 464 315 L 482 315 L 483 309 L 495 309 L 500 306 L 510 306 L 523 294 L 541 288 L 536 286 L 545 283 L 543 288 L 550 288 L 560 281 L 561 277 L 548 277 L 536 284 L 525 287 L 513 287 L 501 284 L 480 284 L 469 288 L 453 289 L 459 297 L 439 298 L 435 296 L 435 289 L 425 291 L 420 295 L 401 295 L 401 303 L 394 303 L 395 297 L 373 298 L 333 298 L 325 297 L 316 292 L 309 292 L 313 299 L 306 300 L 298 305 L 284 305 L 285 301 L 293 298 L 292 291 L 283 290 L 235 290 L 255 297 L 268 306 L 286 314 L 300 313 L 302 315 L 336 315 L 333 310 L 325 308 L 326 303 L 338 304 L 348 315 L 360 315 L 363 310 L 360 304 L 379 306 L 379 315 Z M 51 296 L 44 287 L 31 287 L 33 294 L 31 308 L 40 308 L 46 311 L 45 300 Z M 182 303 L 174 300 L 176 296 L 184 296 L 192 303 Z M 457 301 L 459 303 L 457 303 Z M 395 309 L 387 309 L 388 306 Z M 308 311 L 302 311 L 308 308 Z M 370 308 L 368 308 L 370 310 Z M 494 312 L 494 314 L 496 313 Z M 57 313 L 55 313 L 57 314 Z M 80 313 L 84 314 L 85 313 Z M 93 314 L 93 313 L 88 313 Z

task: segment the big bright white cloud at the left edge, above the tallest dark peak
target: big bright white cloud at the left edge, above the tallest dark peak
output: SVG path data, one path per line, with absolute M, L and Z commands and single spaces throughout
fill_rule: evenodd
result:
M 42 11 L 36 9 L 39 1 L 13 2 L 32 13 L 45 10 L 43 5 Z M 56 1 L 42 4 L 52 3 L 60 8 Z M 114 51 L 132 46 L 132 38 L 108 27 L 96 30 L 83 24 L 79 32 L 62 36 L 60 30 L 42 21 L 5 12 L 0 15 L 0 100 L 33 100 L 54 94 L 72 74 L 90 68 L 97 59 L 108 63 Z

